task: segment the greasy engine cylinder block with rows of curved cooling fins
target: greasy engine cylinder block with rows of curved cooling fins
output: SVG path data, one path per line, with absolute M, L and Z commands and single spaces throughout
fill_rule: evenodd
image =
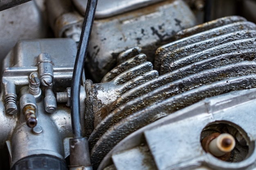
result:
M 108 152 L 112 153 L 112 148 L 122 139 L 162 117 L 171 115 L 182 108 L 186 110 L 187 106 L 207 97 L 255 88 L 255 30 L 256 25 L 254 23 L 247 22 L 242 17 L 231 16 L 180 31 L 175 37 L 182 39 L 157 49 L 155 67 L 161 68 L 160 76 L 158 76 L 157 71 L 152 71 L 151 63 L 146 62 L 146 60 L 139 60 L 139 57 L 144 56 L 144 54 L 137 55 L 135 53 L 139 52 L 138 47 L 120 54 L 119 58 L 124 58 L 123 56 L 135 57 L 119 63 L 103 78 L 102 83 L 87 84 L 90 85 L 90 89 L 87 87 L 86 104 L 87 108 L 94 113 L 95 128 L 89 138 L 94 167 L 99 165 Z M 135 61 L 140 62 L 136 63 L 137 66 L 130 66 Z M 159 61 L 161 61 L 160 64 Z M 125 68 L 125 70 L 122 71 L 121 68 Z M 130 84 L 130 82 L 139 83 L 140 81 L 137 79 L 151 76 L 151 73 L 154 73 L 156 78 L 147 78 L 145 82 L 136 84 L 133 88 L 124 85 Z M 122 86 L 128 87 L 128 90 L 124 90 Z M 223 121 L 225 120 L 223 119 Z M 193 124 L 197 124 L 195 122 Z M 208 124 L 210 123 L 209 121 Z M 179 132 L 179 130 L 175 132 Z M 200 133 L 196 135 L 199 138 Z M 183 134 L 181 136 L 184 137 Z M 145 140 L 148 142 L 150 139 Z M 152 137 L 153 139 L 154 137 Z M 158 139 L 162 140 L 161 137 Z M 129 141 L 127 142 L 129 143 Z M 182 143 L 182 141 L 180 142 Z M 172 145 L 171 142 L 168 144 Z M 200 140 L 198 144 L 200 144 Z M 160 146 L 162 145 L 160 144 Z M 148 146 L 149 150 L 150 147 Z M 163 146 L 163 150 L 165 147 Z M 138 150 L 144 149 L 146 148 L 143 146 L 131 152 L 136 155 Z M 119 149 L 117 148 L 117 150 Z M 130 167 L 126 165 L 126 168 L 133 169 L 133 161 L 136 162 L 137 159 L 143 161 L 152 155 L 153 158 L 148 161 L 151 164 L 145 165 L 145 163 L 139 162 L 141 169 L 145 169 L 144 166 L 147 166 L 148 169 L 155 167 L 166 169 L 171 165 L 175 167 L 175 163 L 168 164 L 172 161 L 167 160 L 168 166 L 164 167 L 164 163 L 160 163 L 161 161 L 158 163 L 158 159 L 154 157 L 152 152 L 141 151 L 139 155 L 143 155 L 143 157 L 138 158 L 138 156 L 132 155 L 131 157 L 134 159 L 129 158 L 126 152 L 122 152 L 128 157 L 127 159 L 131 159 L 131 162 L 128 163 Z M 146 153 L 149 156 L 145 155 Z M 184 157 L 184 152 L 173 152 L 173 154 L 176 157 L 181 155 L 177 161 Z M 107 157 L 110 158 L 111 156 Z M 159 160 L 161 159 L 159 158 Z M 119 158 L 115 159 L 114 156 L 112 161 L 115 163 L 115 167 L 120 170 L 121 167 L 124 168 L 124 162 L 126 162 L 119 160 Z M 121 161 L 120 168 L 118 168 L 119 161 Z M 106 166 L 105 162 L 106 160 L 102 164 Z M 103 168 L 105 167 L 100 166 L 100 169 Z M 136 166 L 136 169 L 139 167 Z

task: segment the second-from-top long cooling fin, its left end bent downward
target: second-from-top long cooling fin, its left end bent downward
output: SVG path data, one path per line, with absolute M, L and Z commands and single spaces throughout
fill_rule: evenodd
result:
M 173 51 L 183 46 L 187 46 L 189 44 L 196 44 L 204 40 L 209 40 L 209 39 L 216 40 L 214 38 L 222 38 L 222 36 L 220 35 L 225 35 L 227 33 L 243 31 L 243 30 L 248 31 L 248 30 L 255 30 L 255 29 L 256 29 L 256 25 L 252 22 L 248 22 L 248 21 L 235 22 L 235 23 L 220 26 L 208 31 L 204 31 L 202 33 L 197 33 L 195 35 L 191 35 L 189 37 L 182 38 L 174 42 L 170 42 L 168 44 L 160 46 L 157 49 L 154 68 L 157 70 L 160 70 L 162 58 L 167 52 Z M 200 46 L 198 46 L 198 48 L 200 48 Z

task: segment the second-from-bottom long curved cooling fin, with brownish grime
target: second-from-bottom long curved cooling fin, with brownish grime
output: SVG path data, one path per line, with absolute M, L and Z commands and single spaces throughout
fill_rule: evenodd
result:
M 170 81 L 171 83 L 161 86 L 156 90 L 146 93 L 145 95 L 141 95 L 135 99 L 131 100 L 126 98 L 126 104 L 113 110 L 112 113 L 103 119 L 95 128 L 94 132 L 92 132 L 89 138 L 90 145 L 94 146 L 101 135 L 121 121 L 121 119 L 128 117 L 128 115 L 131 115 L 139 110 L 143 110 L 145 107 L 153 106 L 172 96 L 179 95 L 206 84 L 212 84 L 214 82 L 232 77 L 251 75 L 256 73 L 254 71 L 255 67 L 256 62 L 239 62 L 227 66 L 213 68 L 184 77 L 182 79 L 178 79 L 174 82 Z

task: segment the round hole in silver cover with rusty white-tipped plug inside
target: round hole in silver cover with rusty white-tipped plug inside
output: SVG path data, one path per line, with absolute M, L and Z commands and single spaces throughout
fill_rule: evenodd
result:
M 228 152 L 223 152 L 223 154 L 219 154 L 220 148 L 218 148 L 218 144 L 215 144 L 216 139 L 220 137 L 220 135 L 227 134 L 231 135 L 230 139 L 225 139 L 229 141 L 231 144 L 231 140 L 234 140 L 235 146 L 234 149 Z M 227 121 L 215 121 L 211 124 L 208 124 L 201 133 L 201 144 L 205 152 L 211 153 L 214 157 L 228 162 L 240 162 L 246 159 L 250 150 L 250 142 L 247 133 L 231 122 Z M 225 142 L 222 141 L 222 142 Z M 219 155 L 215 154 L 218 153 Z M 221 155 L 221 156 L 220 156 Z

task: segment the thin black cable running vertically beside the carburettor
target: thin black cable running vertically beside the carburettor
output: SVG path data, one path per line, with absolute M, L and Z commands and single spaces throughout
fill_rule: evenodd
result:
M 88 0 L 87 2 L 83 29 L 76 53 L 76 62 L 74 65 L 71 87 L 71 124 L 74 138 L 82 137 L 80 121 L 80 88 L 97 2 L 98 0 Z

